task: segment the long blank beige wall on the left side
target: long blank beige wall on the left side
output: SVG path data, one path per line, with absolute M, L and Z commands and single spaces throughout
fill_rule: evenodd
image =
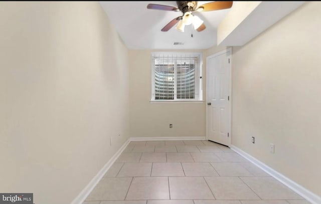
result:
M 97 2 L 2 2 L 0 28 L 0 192 L 70 203 L 128 138 L 128 51 Z

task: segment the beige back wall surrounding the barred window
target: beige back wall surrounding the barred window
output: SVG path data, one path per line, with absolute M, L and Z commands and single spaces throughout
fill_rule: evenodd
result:
M 151 52 L 157 51 L 129 51 L 130 136 L 205 137 L 204 102 L 188 104 L 149 102 L 151 99 Z M 162 52 L 165 51 L 162 50 Z M 182 50 L 177 52 L 182 52 Z M 188 50 L 188 52 L 202 51 Z M 170 128 L 169 124 L 173 124 L 173 128 Z

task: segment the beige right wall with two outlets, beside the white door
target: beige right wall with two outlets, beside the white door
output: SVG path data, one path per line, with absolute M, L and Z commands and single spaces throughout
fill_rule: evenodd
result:
M 232 144 L 321 194 L 321 4 L 233 49 Z M 255 144 L 251 137 L 255 137 Z M 269 144 L 275 144 L 275 153 Z

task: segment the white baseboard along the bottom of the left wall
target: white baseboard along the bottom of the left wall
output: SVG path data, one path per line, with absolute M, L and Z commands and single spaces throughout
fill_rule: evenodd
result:
M 108 171 L 110 166 L 117 160 L 122 151 L 129 144 L 129 139 L 119 148 L 119 150 L 107 161 L 107 163 L 100 169 L 100 171 L 91 179 L 87 186 L 79 193 L 79 195 L 71 202 L 71 204 L 82 204 L 83 201 L 87 198 L 90 192 L 94 189 L 97 183 Z

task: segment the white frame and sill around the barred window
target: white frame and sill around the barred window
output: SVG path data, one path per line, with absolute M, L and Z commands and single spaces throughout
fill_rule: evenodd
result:
M 178 99 L 177 98 L 177 66 L 174 66 L 174 100 L 155 100 L 155 72 L 154 59 L 157 57 L 169 56 L 179 58 L 182 56 L 197 57 L 198 63 L 195 65 L 195 99 Z M 203 55 L 195 52 L 153 52 L 151 53 L 151 103 L 203 103 Z

